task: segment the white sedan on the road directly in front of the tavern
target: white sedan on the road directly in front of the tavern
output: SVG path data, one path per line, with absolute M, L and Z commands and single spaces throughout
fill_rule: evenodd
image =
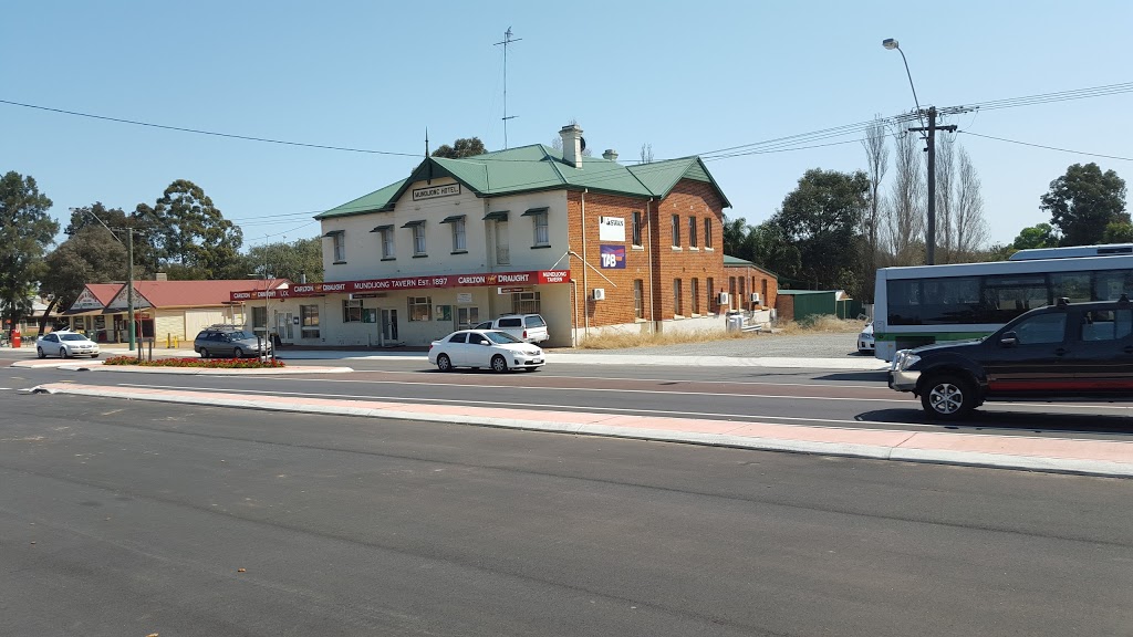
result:
M 546 358 L 538 346 L 496 330 L 458 330 L 428 347 L 428 362 L 442 372 L 488 367 L 493 372 L 538 370 Z

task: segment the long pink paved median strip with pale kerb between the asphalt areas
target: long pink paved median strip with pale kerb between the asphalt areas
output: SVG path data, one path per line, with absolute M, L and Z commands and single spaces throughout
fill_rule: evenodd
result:
M 866 430 L 77 383 L 49 383 L 32 391 L 238 407 L 261 411 L 424 421 L 879 460 L 1133 477 L 1133 442 L 1108 440 Z

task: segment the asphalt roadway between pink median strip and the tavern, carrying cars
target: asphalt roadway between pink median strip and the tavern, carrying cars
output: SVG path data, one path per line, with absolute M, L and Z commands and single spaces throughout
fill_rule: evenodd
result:
M 333 362 L 318 362 L 327 363 Z M 500 375 L 487 371 L 442 374 L 419 359 L 338 363 L 358 372 L 232 377 L 7 368 L 0 372 L 0 387 L 26 389 L 70 380 L 205 392 L 385 398 L 830 427 L 1133 439 L 1133 407 L 1128 404 L 987 404 L 969 421 L 942 424 L 928 418 L 911 394 L 889 390 L 884 372 L 555 364 L 535 373 Z

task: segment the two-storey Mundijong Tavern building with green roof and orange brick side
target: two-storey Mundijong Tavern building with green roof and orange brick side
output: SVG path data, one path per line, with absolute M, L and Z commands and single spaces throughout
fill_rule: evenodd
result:
M 560 135 L 562 153 L 425 159 L 316 216 L 324 283 L 232 300 L 291 313 L 282 340 L 314 346 L 425 345 L 505 313 L 542 314 L 550 346 L 607 330 L 724 330 L 719 314 L 741 307 L 726 294 L 731 204 L 704 162 L 623 165 L 612 151 L 583 156 L 578 126 Z

